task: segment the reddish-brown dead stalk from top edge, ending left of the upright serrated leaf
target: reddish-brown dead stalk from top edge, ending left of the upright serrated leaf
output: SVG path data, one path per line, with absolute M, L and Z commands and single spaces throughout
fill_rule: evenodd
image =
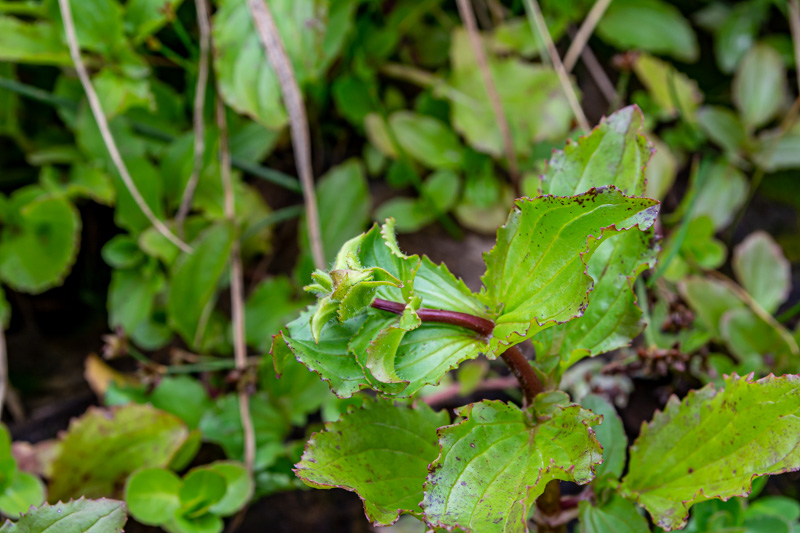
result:
M 478 69 L 481 71 L 483 83 L 489 95 L 489 102 L 492 105 L 494 119 L 497 121 L 497 127 L 500 129 L 500 136 L 503 138 L 503 148 L 506 152 L 506 159 L 508 159 L 508 173 L 511 175 L 511 183 L 519 196 L 519 164 L 517 163 L 517 154 L 514 151 L 514 140 L 511 137 L 511 128 L 508 125 L 508 118 L 506 117 L 505 111 L 503 111 L 500 94 L 497 92 L 497 86 L 492 79 L 492 72 L 489 70 L 489 61 L 486 58 L 486 51 L 483 49 L 478 25 L 475 22 L 475 13 L 472 11 L 472 5 L 469 0 L 457 0 L 457 3 L 458 12 L 461 15 L 461 20 L 464 21 L 464 27 L 469 36 L 472 52 L 475 54 L 475 60 L 478 62 Z

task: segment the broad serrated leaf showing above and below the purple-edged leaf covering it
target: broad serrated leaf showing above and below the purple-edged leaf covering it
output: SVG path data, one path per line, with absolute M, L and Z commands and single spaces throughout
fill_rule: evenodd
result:
M 592 133 L 568 143 L 548 163 L 542 188 L 548 194 L 574 195 L 591 187 L 614 185 L 625 194 L 641 196 L 644 169 L 652 145 L 640 133 L 644 117 L 635 106 L 603 119 Z M 652 231 L 632 231 L 612 237 L 588 261 L 594 289 L 582 319 L 556 325 L 537 339 L 539 362 L 560 356 L 561 369 L 586 355 L 597 355 L 628 344 L 644 328 L 636 306 L 633 282 L 655 264 Z

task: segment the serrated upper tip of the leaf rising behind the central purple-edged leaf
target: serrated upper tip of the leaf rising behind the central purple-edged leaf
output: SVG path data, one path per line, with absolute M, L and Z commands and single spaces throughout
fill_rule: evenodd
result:
M 592 187 L 614 185 L 628 196 L 644 194 L 644 168 L 653 145 L 642 135 L 644 116 L 634 106 L 603 118 L 600 125 L 578 142 L 567 140 L 564 150 L 553 152 L 542 176 L 542 191 L 571 196 Z

